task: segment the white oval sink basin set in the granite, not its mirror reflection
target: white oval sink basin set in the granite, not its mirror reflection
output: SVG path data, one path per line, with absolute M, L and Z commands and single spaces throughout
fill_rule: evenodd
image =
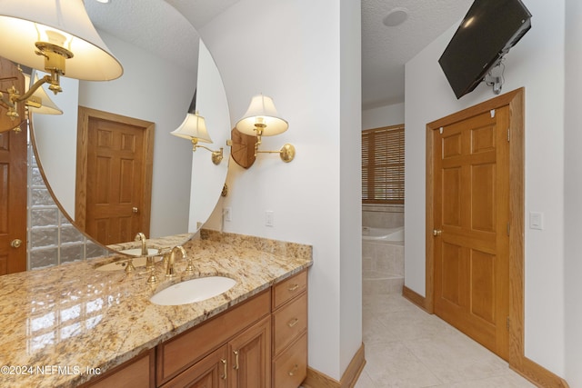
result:
M 149 300 L 165 306 L 202 302 L 230 290 L 236 281 L 225 276 L 207 276 L 186 280 L 154 294 Z

